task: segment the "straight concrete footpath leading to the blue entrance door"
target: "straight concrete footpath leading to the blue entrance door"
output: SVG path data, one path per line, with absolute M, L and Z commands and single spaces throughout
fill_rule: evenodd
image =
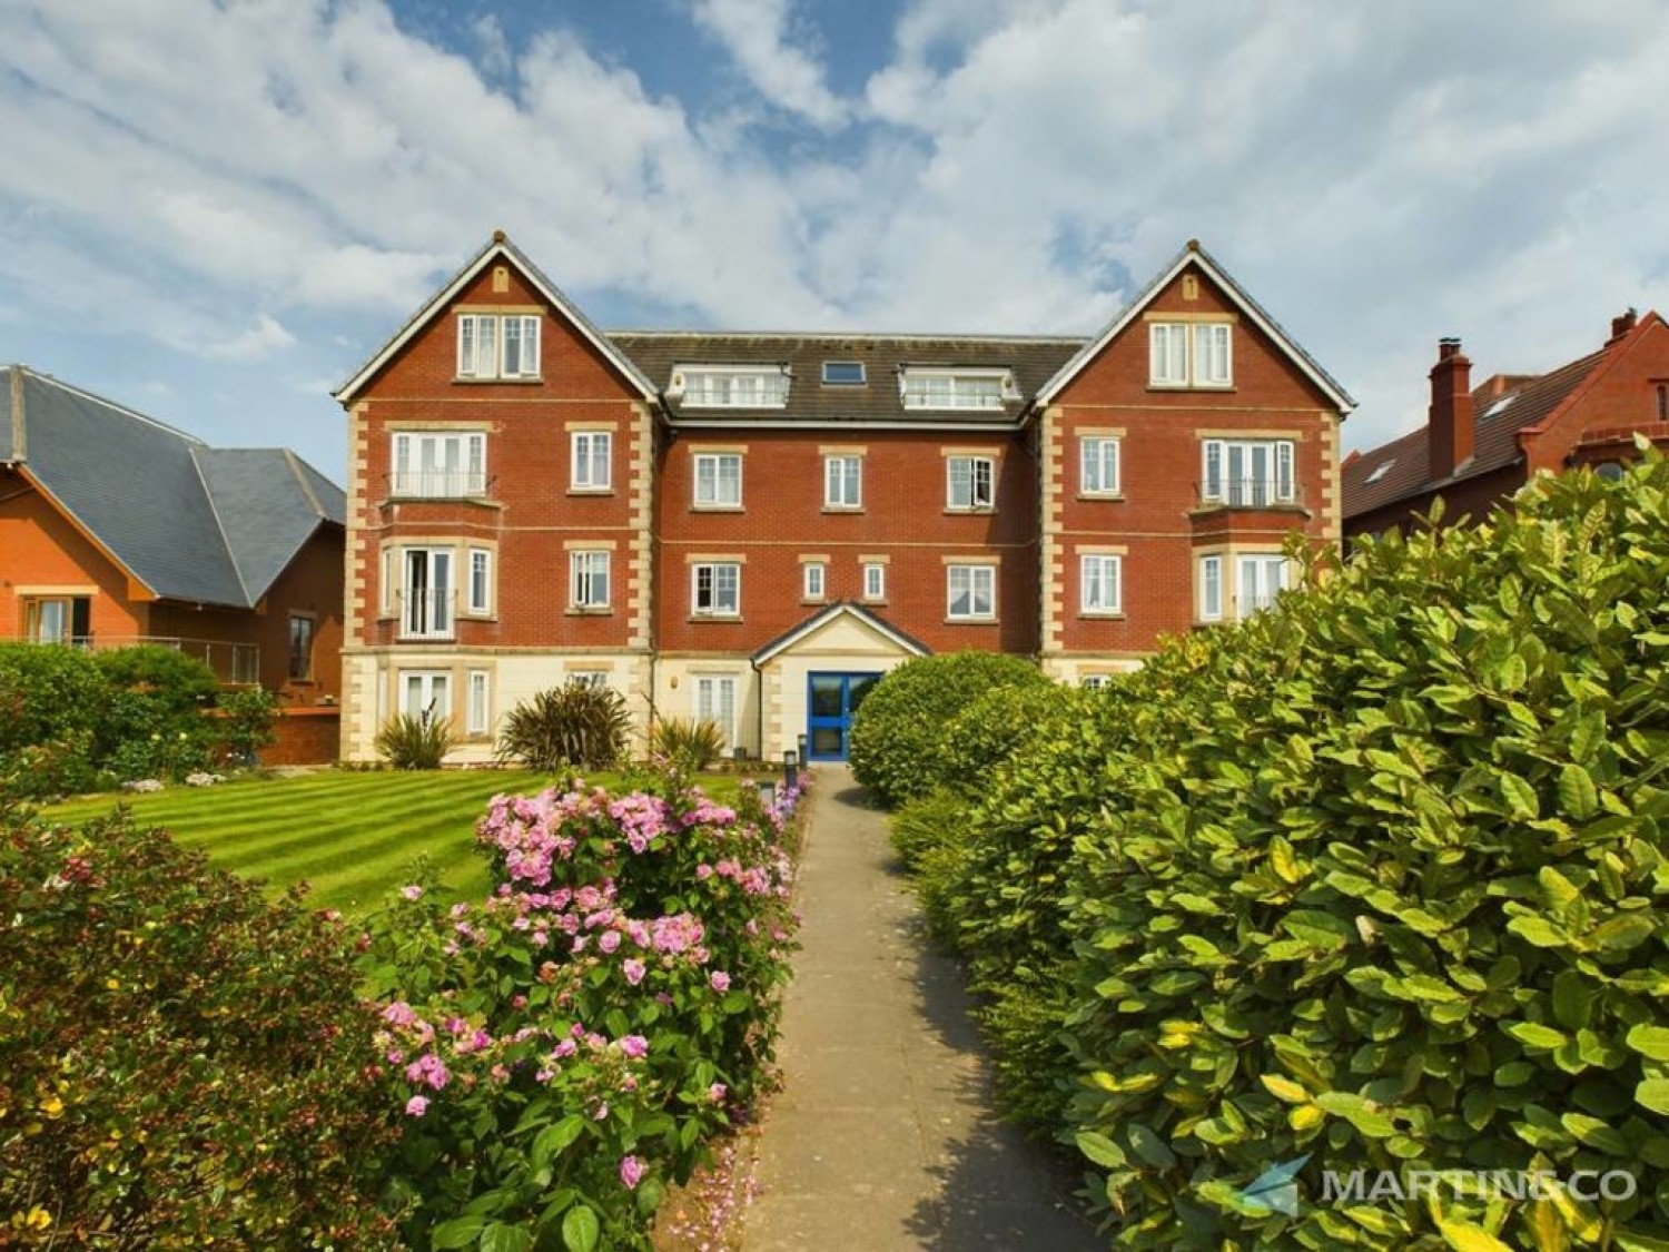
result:
M 956 965 L 843 766 L 818 768 L 798 895 L 746 1252 L 1103 1249 L 1075 1180 L 996 1120 Z

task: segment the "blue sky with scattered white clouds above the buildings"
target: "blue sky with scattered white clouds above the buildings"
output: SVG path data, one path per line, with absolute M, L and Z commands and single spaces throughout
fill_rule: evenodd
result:
M 504 229 L 604 327 L 1093 334 L 1188 239 L 1359 401 L 1669 312 L 1662 0 L 0 0 L 0 362 L 337 481 Z

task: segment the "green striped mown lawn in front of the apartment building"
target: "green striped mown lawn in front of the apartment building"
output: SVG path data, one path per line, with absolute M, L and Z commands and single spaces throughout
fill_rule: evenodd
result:
M 587 783 L 611 785 L 606 775 Z M 486 860 L 476 821 L 499 791 L 534 793 L 544 775 L 511 770 L 436 773 L 349 773 L 325 770 L 299 778 L 250 778 L 219 786 L 170 786 L 142 796 L 93 796 L 53 805 L 43 816 L 85 821 L 125 803 L 147 825 L 200 846 L 227 870 L 267 880 L 274 890 L 310 883 L 317 908 L 364 913 L 406 881 L 427 855 L 457 895 L 484 895 Z M 734 778 L 704 778 L 709 795 L 736 795 Z

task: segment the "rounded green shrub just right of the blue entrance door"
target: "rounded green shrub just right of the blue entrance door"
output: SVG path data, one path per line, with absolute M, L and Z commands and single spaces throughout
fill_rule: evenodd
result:
M 853 716 L 853 775 L 893 806 L 943 780 L 950 721 L 986 691 L 1043 686 L 1035 664 L 1005 653 L 918 656 L 888 673 Z

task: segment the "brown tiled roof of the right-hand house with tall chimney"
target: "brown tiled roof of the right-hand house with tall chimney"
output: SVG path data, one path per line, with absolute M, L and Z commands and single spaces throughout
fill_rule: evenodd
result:
M 1472 389 L 1472 456 L 1444 479 L 1430 476 L 1430 426 L 1424 424 L 1347 461 L 1339 472 L 1344 516 L 1357 517 L 1397 501 L 1490 474 L 1524 459 L 1519 434 L 1554 416 L 1596 374 L 1609 347 L 1569 361 L 1537 376 L 1519 376 L 1519 386 L 1492 394 L 1489 384 Z M 1390 466 L 1375 477 L 1380 466 Z

